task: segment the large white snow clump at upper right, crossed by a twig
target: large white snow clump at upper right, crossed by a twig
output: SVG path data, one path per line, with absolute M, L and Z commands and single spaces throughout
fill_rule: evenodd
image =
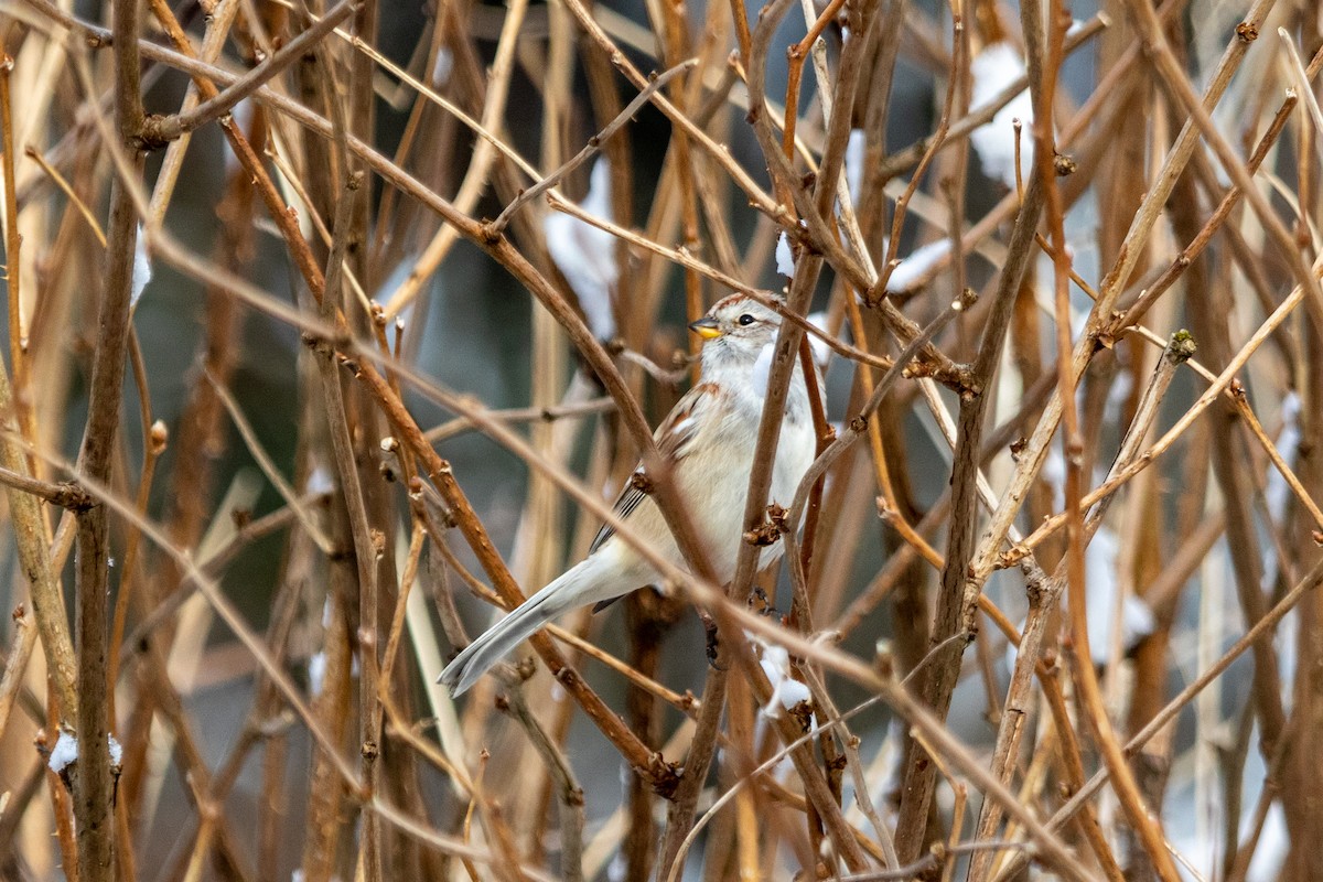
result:
M 994 42 L 970 62 L 970 75 L 974 78 L 974 94 L 970 110 L 986 107 L 1007 86 L 1024 75 L 1024 58 L 1005 42 Z M 1033 124 L 1033 99 L 1025 89 L 999 110 L 992 122 L 980 126 L 970 135 L 974 149 L 983 163 L 983 172 L 1015 189 L 1015 120 L 1024 128 L 1020 135 L 1020 173 L 1028 179 L 1033 168 L 1033 138 L 1029 127 Z

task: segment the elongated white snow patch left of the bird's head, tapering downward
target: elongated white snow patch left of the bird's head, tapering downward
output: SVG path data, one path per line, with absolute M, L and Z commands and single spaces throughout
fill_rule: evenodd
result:
M 611 218 L 611 167 L 606 160 L 593 165 L 587 196 L 579 206 L 597 217 Z M 611 298 L 620 274 L 615 263 L 615 237 L 560 212 L 550 212 L 542 220 L 542 234 L 546 250 L 574 290 L 593 335 L 610 340 L 615 336 Z

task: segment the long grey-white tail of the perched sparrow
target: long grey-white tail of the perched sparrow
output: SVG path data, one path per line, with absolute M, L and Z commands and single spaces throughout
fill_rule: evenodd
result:
M 562 612 L 599 600 L 599 561 L 590 557 L 570 567 L 545 588 L 519 604 L 504 619 L 484 631 L 441 672 L 450 694 L 468 690 L 478 678 L 515 647 Z

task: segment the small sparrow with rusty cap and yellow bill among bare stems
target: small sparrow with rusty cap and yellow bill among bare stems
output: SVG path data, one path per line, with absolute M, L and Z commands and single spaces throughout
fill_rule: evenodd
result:
M 658 450 L 671 463 L 673 487 L 720 583 L 729 583 L 736 573 L 749 473 L 779 327 L 781 316 L 753 298 L 736 294 L 713 304 L 689 325 L 703 337 L 699 382 L 654 432 Z M 770 504 L 790 505 L 812 464 L 815 448 L 808 386 L 796 360 L 771 469 Z M 642 465 L 636 473 L 642 473 Z M 635 536 L 651 537 L 663 558 L 683 567 L 684 557 L 644 487 L 646 481 L 631 479 L 615 502 L 615 516 L 627 522 Z M 770 566 L 783 553 L 781 540 L 761 551 L 761 566 Z M 587 557 L 468 644 L 442 670 L 438 682 L 458 697 L 560 615 L 590 603 L 602 608 L 660 582 L 662 574 L 605 525 Z

